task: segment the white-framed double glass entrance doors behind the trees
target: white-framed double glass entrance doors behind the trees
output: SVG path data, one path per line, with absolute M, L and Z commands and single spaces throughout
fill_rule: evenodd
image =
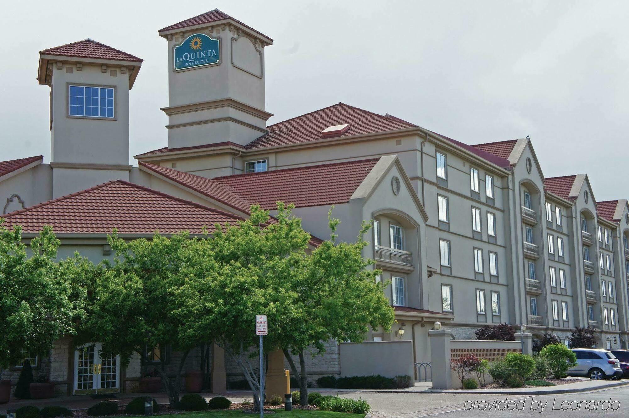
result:
M 120 392 L 120 356 L 101 357 L 101 343 L 74 351 L 74 394 Z

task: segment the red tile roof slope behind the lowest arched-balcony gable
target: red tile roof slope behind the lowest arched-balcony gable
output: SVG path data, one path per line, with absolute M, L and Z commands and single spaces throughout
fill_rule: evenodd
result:
M 285 168 L 214 180 L 264 209 L 274 209 L 276 202 L 292 202 L 296 207 L 331 205 L 348 202 L 378 160 Z

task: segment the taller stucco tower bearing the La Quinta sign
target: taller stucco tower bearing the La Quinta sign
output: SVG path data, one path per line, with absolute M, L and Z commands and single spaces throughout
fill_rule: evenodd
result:
M 169 148 L 266 133 L 264 48 L 273 40 L 218 9 L 159 30 L 168 41 Z

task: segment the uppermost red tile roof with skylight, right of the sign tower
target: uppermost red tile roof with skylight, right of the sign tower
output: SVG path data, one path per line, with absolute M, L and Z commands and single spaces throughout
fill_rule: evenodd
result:
M 248 143 L 247 149 L 321 140 L 323 138 L 321 135 L 323 129 L 345 123 L 350 124 L 349 128 L 336 138 L 394 131 L 416 126 L 398 118 L 387 118 L 358 107 L 338 103 L 267 126 L 269 132 Z

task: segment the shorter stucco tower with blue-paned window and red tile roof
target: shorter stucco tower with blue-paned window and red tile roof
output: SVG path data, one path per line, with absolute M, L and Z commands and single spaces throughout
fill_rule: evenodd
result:
M 40 52 L 50 86 L 53 197 L 129 180 L 129 91 L 142 60 L 86 39 Z

